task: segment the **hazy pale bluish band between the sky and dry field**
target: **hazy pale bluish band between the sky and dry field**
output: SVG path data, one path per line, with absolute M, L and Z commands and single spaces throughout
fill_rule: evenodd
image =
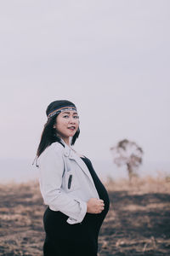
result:
M 116 167 L 111 160 L 92 160 L 92 163 L 94 170 L 103 180 L 108 176 L 113 179 L 127 177 L 126 168 Z M 10 181 L 20 183 L 30 179 L 37 179 L 38 177 L 38 168 L 32 166 L 32 160 L 1 159 L 0 166 L 1 183 Z M 143 166 L 139 169 L 139 174 L 142 177 L 145 175 L 156 177 L 159 173 L 161 173 L 161 175 L 170 175 L 170 162 L 144 162 Z

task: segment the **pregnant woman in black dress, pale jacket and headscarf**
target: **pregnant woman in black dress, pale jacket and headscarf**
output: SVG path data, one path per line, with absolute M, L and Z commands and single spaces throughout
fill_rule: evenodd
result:
M 109 197 L 91 161 L 71 148 L 79 136 L 75 104 L 55 101 L 37 148 L 39 183 L 48 208 L 43 215 L 44 256 L 97 256 Z

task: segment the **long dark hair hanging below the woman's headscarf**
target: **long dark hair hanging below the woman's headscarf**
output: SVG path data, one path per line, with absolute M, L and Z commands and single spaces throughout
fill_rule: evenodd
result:
M 52 143 L 55 143 L 55 142 L 61 143 L 61 139 L 56 135 L 57 131 L 54 128 L 54 124 L 56 122 L 56 118 L 58 115 L 59 113 L 49 118 L 47 123 L 44 125 L 43 131 L 42 131 L 42 137 L 41 137 L 39 146 L 37 148 L 37 157 L 39 157 L 40 154 L 42 154 L 42 152 L 45 150 L 45 148 L 48 148 L 48 146 L 50 146 Z M 80 129 L 78 128 L 77 132 L 71 139 L 71 145 L 74 145 L 79 134 L 80 134 Z

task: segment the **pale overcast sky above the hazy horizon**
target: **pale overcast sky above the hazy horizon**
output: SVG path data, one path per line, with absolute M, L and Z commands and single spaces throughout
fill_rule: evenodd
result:
M 45 110 L 77 105 L 75 148 L 110 160 L 123 138 L 169 161 L 170 1 L 0 3 L 1 158 L 33 159 Z

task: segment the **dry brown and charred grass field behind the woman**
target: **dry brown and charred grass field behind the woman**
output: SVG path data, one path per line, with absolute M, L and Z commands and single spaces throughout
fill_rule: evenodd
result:
M 170 255 L 170 181 L 147 177 L 105 186 L 111 208 L 99 256 Z M 38 183 L 0 185 L 0 255 L 42 255 L 45 208 Z

